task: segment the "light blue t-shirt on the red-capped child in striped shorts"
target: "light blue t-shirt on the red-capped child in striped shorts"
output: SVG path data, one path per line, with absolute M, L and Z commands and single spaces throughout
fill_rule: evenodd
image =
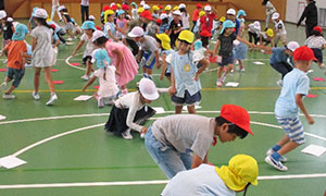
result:
M 310 87 L 306 73 L 293 69 L 284 77 L 280 95 L 275 105 L 275 114 L 281 118 L 297 118 L 299 108 L 296 103 L 296 95 L 308 95 Z

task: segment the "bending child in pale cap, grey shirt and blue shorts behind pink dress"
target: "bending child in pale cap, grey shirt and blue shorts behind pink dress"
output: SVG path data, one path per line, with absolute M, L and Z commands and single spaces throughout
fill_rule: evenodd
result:
M 139 42 L 140 50 L 137 56 L 137 62 L 142 65 L 142 76 L 146 78 L 153 79 L 153 66 L 160 68 L 159 64 L 159 48 L 156 46 L 156 40 L 148 35 L 143 35 L 143 29 L 136 26 L 128 34 L 136 42 Z

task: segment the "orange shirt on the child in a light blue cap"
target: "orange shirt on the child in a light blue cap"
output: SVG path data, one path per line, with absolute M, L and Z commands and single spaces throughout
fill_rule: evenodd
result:
M 26 42 L 23 40 L 12 40 L 7 46 L 8 49 L 8 62 L 7 66 L 11 69 L 22 70 L 25 64 L 22 63 L 22 52 L 27 52 Z

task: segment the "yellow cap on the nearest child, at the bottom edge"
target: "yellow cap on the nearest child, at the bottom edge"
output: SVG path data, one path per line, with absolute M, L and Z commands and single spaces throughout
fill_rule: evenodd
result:
M 228 166 L 215 169 L 216 173 L 233 191 L 242 191 L 248 183 L 258 185 L 259 168 L 256 160 L 247 155 L 237 155 L 233 157 Z

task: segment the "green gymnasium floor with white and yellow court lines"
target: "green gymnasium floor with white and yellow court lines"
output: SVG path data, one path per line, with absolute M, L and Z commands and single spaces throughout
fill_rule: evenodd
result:
M 297 29 L 287 24 L 287 30 L 288 40 L 303 44 L 303 27 Z M 43 77 L 40 82 L 41 99 L 33 99 L 34 70 L 30 68 L 26 69 L 25 77 L 15 90 L 16 99 L 0 98 L 0 114 L 7 117 L 0 121 L 0 158 L 14 155 L 27 161 L 11 170 L 0 168 L 0 195 L 159 195 L 166 177 L 147 152 L 139 134 L 135 133 L 133 140 L 106 135 L 103 123 L 108 120 L 111 107 L 99 109 L 95 99 L 73 100 L 79 95 L 92 95 L 95 91 L 91 86 L 82 93 L 85 82 L 80 76 L 84 71 L 65 62 L 76 44 L 60 46 L 58 63 L 53 68 L 59 72 L 53 72 L 52 77 L 64 83 L 55 86 L 60 98 L 55 106 L 46 106 L 49 91 Z M 223 166 L 237 154 L 253 156 L 259 162 L 260 181 L 258 186 L 249 188 L 250 196 L 323 195 L 326 189 L 326 156 L 313 157 L 301 150 L 311 144 L 326 147 L 325 82 L 311 79 L 310 94 L 317 97 L 305 98 L 304 103 L 314 117 L 315 124 L 309 125 L 301 117 L 306 143 L 287 155 L 288 172 L 276 171 L 264 162 L 265 151 L 284 134 L 273 114 L 280 90 L 276 82 L 280 76 L 268 65 L 268 58 L 269 54 L 260 51 L 248 52 L 246 72 L 236 71 L 227 77 L 227 82 L 240 83 L 238 87 L 216 88 L 216 64 L 211 64 L 212 71 L 201 75 L 203 90 L 198 113 L 216 117 L 223 105 L 239 105 L 250 111 L 254 132 L 254 136 L 243 140 L 212 147 L 209 160 Z M 82 54 L 68 61 L 82 62 Z M 255 61 L 264 64 L 254 64 Z M 0 69 L 3 68 L 1 59 Z M 312 69 L 314 72 L 309 74 L 311 78 L 324 77 L 316 64 Z M 159 73 L 158 70 L 155 73 Z M 1 81 L 4 76 L 5 72 L 0 72 Z M 138 75 L 128 88 L 135 89 L 140 78 Z M 158 87 L 168 85 L 167 79 L 160 81 L 156 75 L 154 82 Z M 167 94 L 162 94 L 151 106 L 163 107 L 166 111 L 154 119 L 174 111 Z M 152 120 L 147 125 L 150 123 Z

